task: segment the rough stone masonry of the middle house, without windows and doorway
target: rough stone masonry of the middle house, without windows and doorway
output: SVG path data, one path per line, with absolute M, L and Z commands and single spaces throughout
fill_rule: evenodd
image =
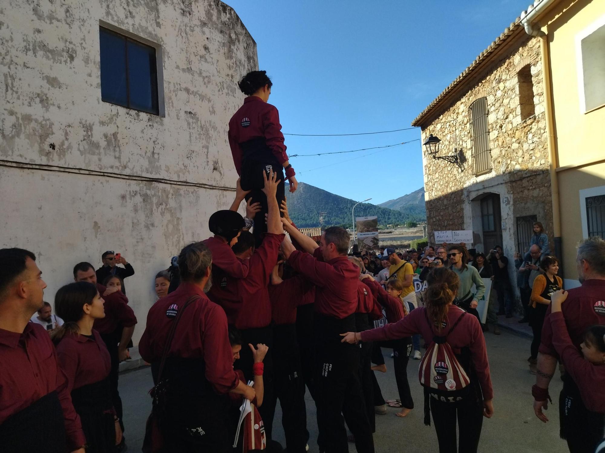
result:
M 502 240 L 505 254 L 517 250 L 516 219 L 536 215 L 545 225 L 552 244 L 552 204 L 545 119 L 545 97 L 540 59 L 540 40 L 523 37 L 517 31 L 507 53 L 496 61 L 484 62 L 468 80 L 462 94 L 437 106 L 430 122 L 422 124 L 422 141 L 431 133 L 442 142 L 440 155 L 456 153 L 463 162 L 455 164 L 433 159 L 424 153 L 425 198 L 428 235 L 434 231 L 473 230 L 474 244 L 482 249 L 483 231 L 479 200 L 499 194 L 502 212 Z M 533 92 L 520 84 L 519 72 L 531 74 Z M 521 79 L 523 82 L 523 79 Z M 527 79 L 525 79 L 527 82 Z M 531 90 L 531 86 L 529 87 Z M 469 107 L 486 97 L 488 106 L 491 171 L 475 175 L 471 144 Z M 522 117 L 520 103 L 531 101 L 535 114 Z M 527 108 L 524 105 L 523 108 Z M 525 111 L 524 111 L 525 114 Z M 525 116 L 525 115 L 524 115 Z M 512 262 L 512 259 L 511 259 Z M 514 268 L 511 267 L 511 277 Z M 514 281 L 512 281 L 514 283 Z

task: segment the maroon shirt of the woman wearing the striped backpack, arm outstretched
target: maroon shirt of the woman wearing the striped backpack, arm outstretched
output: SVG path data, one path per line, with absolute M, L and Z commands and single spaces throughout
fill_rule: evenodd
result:
M 414 335 L 414 333 L 419 333 L 427 344 L 430 344 L 437 332 L 427 323 L 426 310 L 425 307 L 419 307 L 396 323 L 389 323 L 384 327 L 378 327 L 378 329 L 365 330 L 361 332 L 361 339 L 362 341 L 380 341 L 405 338 Z M 459 326 L 454 329 L 454 332 L 448 335 L 450 330 L 448 329 L 448 325 L 453 326 L 463 313 L 466 313 L 463 309 L 451 305 L 450 310 L 448 310 L 446 326 L 443 327 L 439 335 L 447 336 L 448 344 L 450 344 L 454 353 L 459 353 L 463 347 L 469 347 L 477 379 L 483 391 L 483 399 L 489 400 L 494 397 L 494 391 L 492 390 L 491 376 L 489 375 L 485 338 L 483 338 L 483 331 L 479 320 L 473 315 L 466 315 L 460 321 Z

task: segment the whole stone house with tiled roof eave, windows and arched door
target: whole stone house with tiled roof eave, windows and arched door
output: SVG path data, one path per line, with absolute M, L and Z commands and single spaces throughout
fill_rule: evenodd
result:
M 436 156 L 422 151 L 430 242 L 434 231 L 473 230 L 477 250 L 502 245 L 513 287 L 532 222 L 552 243 L 544 103 L 540 39 L 517 19 L 412 123 L 423 142 L 441 140 Z

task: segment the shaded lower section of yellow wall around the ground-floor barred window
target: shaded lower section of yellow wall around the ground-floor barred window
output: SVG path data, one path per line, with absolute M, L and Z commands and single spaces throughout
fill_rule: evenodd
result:
M 586 209 L 586 205 L 580 204 L 580 190 L 605 185 L 605 162 L 558 172 L 558 179 L 565 278 L 576 280 L 575 247 L 584 237 L 580 210 Z

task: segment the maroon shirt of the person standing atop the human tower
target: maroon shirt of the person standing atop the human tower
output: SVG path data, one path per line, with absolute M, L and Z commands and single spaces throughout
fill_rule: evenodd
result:
M 267 147 L 280 164 L 288 160 L 284 134 L 281 133 L 280 114 L 275 106 L 260 97 L 250 96 L 244 99 L 244 105 L 229 121 L 229 146 L 238 175 L 241 176 L 243 155 L 240 143 L 261 137 L 265 138 Z

